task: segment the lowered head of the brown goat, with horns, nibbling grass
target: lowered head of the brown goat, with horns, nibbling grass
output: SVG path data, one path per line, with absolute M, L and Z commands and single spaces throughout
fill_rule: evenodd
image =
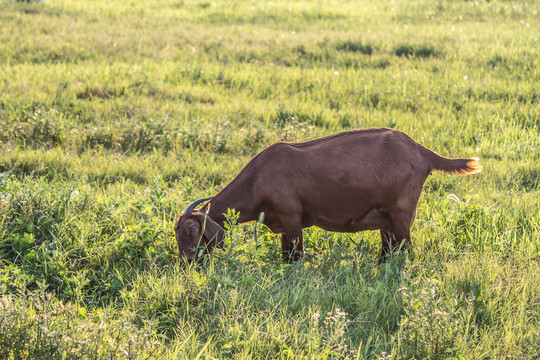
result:
M 195 210 L 195 206 L 210 199 L 193 202 L 174 224 L 178 250 L 189 261 L 197 259 L 201 250 L 209 254 L 214 246 L 223 247 L 223 228 L 207 214 Z

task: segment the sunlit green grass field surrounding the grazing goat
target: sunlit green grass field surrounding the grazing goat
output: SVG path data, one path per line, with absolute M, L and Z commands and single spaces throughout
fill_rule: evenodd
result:
M 539 11 L 0 1 L 0 358 L 539 358 Z M 374 126 L 484 166 L 428 179 L 414 254 L 310 228 L 286 264 L 255 223 L 181 261 L 267 145 Z

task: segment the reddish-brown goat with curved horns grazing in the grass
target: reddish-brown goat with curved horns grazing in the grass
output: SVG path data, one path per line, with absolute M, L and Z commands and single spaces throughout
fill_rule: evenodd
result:
M 263 223 L 282 234 L 283 255 L 290 260 L 302 257 L 302 228 L 315 225 L 337 232 L 380 230 L 379 260 L 384 261 L 401 241 L 411 245 L 418 199 L 433 170 L 468 175 L 481 166 L 476 158 L 439 156 L 385 128 L 279 142 L 255 156 L 216 196 L 188 206 L 175 224 L 178 248 L 192 260 L 200 245 L 207 253 L 222 247 L 224 213 L 230 208 L 239 212 L 240 223 L 264 213 Z

